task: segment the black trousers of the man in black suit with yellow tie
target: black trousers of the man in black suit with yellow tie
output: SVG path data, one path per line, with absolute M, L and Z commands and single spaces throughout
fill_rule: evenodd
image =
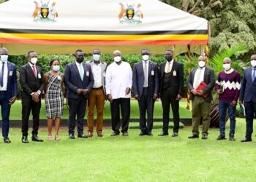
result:
M 162 101 L 162 132 L 168 132 L 170 121 L 170 105 L 173 110 L 173 132 L 178 132 L 179 129 L 179 100 L 176 100 L 176 96 L 170 95 L 170 90 L 163 90 L 161 95 Z

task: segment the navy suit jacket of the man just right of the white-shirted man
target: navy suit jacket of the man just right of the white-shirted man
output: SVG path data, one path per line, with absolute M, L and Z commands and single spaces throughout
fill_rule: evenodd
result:
M 142 96 L 144 84 L 143 61 L 135 63 L 132 70 L 132 89 L 134 95 Z M 148 95 L 159 92 L 159 70 L 157 63 L 148 61 Z

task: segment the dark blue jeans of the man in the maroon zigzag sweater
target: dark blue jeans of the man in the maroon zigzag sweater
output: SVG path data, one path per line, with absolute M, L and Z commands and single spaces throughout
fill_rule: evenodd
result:
M 232 101 L 219 101 L 219 132 L 225 135 L 226 113 L 230 117 L 230 135 L 236 130 L 236 108 L 231 106 Z

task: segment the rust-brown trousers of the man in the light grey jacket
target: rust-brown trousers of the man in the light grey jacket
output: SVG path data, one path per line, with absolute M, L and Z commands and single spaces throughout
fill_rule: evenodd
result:
M 102 131 L 103 109 L 105 103 L 105 94 L 103 89 L 91 89 L 88 99 L 87 126 L 89 132 L 94 132 L 94 106 L 97 108 L 97 132 Z

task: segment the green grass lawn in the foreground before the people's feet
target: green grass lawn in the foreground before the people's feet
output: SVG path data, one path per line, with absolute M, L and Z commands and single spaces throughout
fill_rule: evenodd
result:
M 219 131 L 211 129 L 209 139 L 189 140 L 191 127 L 178 138 L 129 136 L 70 140 L 67 129 L 61 141 L 20 142 L 20 129 L 10 129 L 12 143 L 0 141 L 0 181 L 255 181 L 256 138 L 241 143 L 245 121 L 238 119 L 236 141 L 216 141 Z M 31 129 L 29 130 L 31 132 Z M 171 132 L 171 131 L 170 131 Z M 227 131 L 228 133 L 228 131 Z M 45 128 L 39 136 L 47 138 Z

